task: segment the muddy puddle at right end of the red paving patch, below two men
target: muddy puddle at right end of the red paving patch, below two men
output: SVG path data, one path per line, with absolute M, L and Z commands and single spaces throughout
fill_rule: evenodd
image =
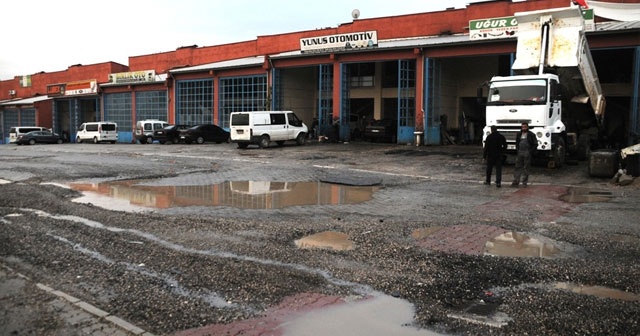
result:
M 505 232 L 485 243 L 485 255 L 503 257 L 552 257 L 560 249 L 518 232 Z

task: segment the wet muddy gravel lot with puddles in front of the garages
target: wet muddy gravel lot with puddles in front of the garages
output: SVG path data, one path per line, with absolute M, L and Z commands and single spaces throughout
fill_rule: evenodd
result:
M 381 296 L 407 335 L 639 334 L 639 183 L 587 165 L 496 188 L 476 146 L 2 145 L 0 334 L 91 334 L 35 283 L 161 335 L 287 335 L 304 302 Z M 325 231 L 351 248 L 296 245 Z

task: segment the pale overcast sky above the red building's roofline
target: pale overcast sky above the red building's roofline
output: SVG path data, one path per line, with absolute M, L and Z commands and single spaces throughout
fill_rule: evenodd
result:
M 2 8 L 0 80 L 72 64 L 211 46 L 483 0 L 14 0 Z

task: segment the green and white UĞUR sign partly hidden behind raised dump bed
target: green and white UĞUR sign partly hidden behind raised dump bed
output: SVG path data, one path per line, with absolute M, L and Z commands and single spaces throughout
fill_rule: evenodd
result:
M 585 31 L 595 30 L 593 9 L 582 9 Z M 469 39 L 484 40 L 512 37 L 518 33 L 515 16 L 469 21 Z

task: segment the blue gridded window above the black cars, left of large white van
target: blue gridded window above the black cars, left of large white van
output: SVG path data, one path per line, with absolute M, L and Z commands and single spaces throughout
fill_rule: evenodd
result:
M 213 124 L 213 79 L 177 81 L 176 123 Z

